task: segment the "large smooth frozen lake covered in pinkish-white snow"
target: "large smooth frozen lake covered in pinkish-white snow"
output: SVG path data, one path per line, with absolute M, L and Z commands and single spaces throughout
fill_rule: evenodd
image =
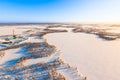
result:
M 53 33 L 44 36 L 61 50 L 62 59 L 78 67 L 88 80 L 120 80 L 120 41 L 104 41 L 85 33 Z

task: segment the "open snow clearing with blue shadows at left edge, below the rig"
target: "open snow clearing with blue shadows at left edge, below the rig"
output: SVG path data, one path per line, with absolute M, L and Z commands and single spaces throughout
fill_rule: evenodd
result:
M 28 56 L 28 52 L 26 52 L 27 46 L 15 49 L 8 49 L 4 51 L 4 56 L 0 58 L 0 66 L 10 66 L 14 64 L 21 57 Z

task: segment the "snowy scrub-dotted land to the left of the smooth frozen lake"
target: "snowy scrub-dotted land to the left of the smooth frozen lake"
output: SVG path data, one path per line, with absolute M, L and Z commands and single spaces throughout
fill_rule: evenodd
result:
M 84 80 L 85 76 L 64 63 L 61 52 L 43 38 L 55 32 L 66 30 L 30 25 L 0 27 L 0 80 Z

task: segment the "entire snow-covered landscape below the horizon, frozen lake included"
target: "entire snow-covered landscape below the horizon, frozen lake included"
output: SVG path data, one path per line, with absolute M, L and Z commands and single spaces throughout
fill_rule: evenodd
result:
M 56 25 L 1 26 L 0 80 L 120 80 L 118 26 Z

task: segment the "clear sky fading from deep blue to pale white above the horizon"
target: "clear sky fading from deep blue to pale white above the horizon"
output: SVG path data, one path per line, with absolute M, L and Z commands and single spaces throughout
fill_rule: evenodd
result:
M 0 0 L 0 22 L 119 23 L 120 0 Z

